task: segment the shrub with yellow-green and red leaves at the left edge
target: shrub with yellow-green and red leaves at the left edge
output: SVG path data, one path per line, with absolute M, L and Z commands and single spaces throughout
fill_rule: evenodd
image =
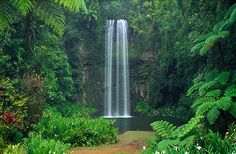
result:
M 2 79 L 0 91 L 0 136 L 8 143 L 18 143 L 23 137 L 24 118 L 27 116 L 27 97 L 9 79 Z

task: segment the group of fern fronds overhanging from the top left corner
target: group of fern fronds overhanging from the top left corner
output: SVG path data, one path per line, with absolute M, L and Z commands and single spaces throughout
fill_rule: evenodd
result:
M 9 27 L 18 13 L 25 16 L 33 12 L 54 32 L 62 35 L 65 29 L 65 15 L 62 7 L 72 12 L 80 10 L 87 12 L 84 0 L 1 0 L 0 30 Z

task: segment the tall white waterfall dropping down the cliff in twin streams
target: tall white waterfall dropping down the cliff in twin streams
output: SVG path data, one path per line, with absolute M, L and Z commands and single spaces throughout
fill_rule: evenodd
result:
M 130 117 L 127 21 L 108 20 L 105 43 L 105 117 Z M 116 36 L 113 34 L 116 30 Z M 116 44 L 114 42 L 116 40 Z M 113 46 L 113 43 L 116 47 Z M 113 62 L 115 61 L 115 62 Z

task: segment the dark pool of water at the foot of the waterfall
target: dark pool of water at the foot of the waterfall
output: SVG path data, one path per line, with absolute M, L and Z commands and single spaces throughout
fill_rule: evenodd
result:
M 153 116 L 153 117 L 118 117 L 109 119 L 115 120 L 115 126 L 118 128 L 120 133 L 126 131 L 152 131 L 150 126 L 151 123 L 157 120 L 166 120 L 177 126 L 183 124 L 183 121 L 177 120 L 173 117 L 162 117 L 162 116 Z

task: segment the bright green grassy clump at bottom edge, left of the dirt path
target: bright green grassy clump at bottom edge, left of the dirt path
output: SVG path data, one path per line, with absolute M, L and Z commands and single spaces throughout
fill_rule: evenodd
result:
M 30 134 L 24 144 L 27 154 L 65 154 L 69 145 L 54 139 L 43 139 L 38 134 Z

